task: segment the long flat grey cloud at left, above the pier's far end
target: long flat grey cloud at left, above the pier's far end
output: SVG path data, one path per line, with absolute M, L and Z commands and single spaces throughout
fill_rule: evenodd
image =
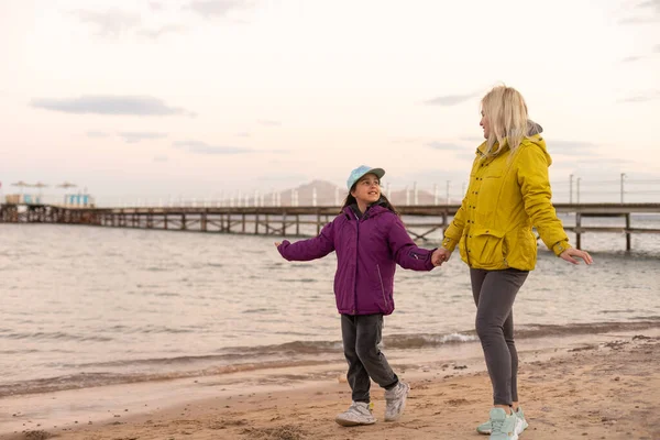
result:
M 168 107 L 148 96 L 90 95 L 79 98 L 36 98 L 32 107 L 78 114 L 195 116 L 179 107 Z

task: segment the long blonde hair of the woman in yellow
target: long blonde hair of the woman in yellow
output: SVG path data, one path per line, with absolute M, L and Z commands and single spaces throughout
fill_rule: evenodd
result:
M 486 156 L 497 155 L 506 144 L 513 155 L 527 138 L 527 105 L 522 95 L 513 87 L 496 86 L 483 97 L 481 107 L 491 129 Z M 493 150 L 495 143 L 497 150 Z

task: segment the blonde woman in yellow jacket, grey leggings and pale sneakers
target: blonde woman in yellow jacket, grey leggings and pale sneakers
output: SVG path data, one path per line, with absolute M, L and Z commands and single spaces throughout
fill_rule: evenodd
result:
M 470 266 L 476 332 L 493 384 L 494 408 L 480 433 L 515 440 L 527 428 L 518 405 L 518 355 L 512 308 L 532 271 L 537 243 L 531 228 L 561 258 L 592 263 L 588 253 L 571 248 L 551 202 L 548 167 L 552 163 L 540 133 L 530 133 L 527 105 L 510 87 L 499 86 L 482 99 L 486 141 L 479 146 L 470 186 L 461 208 L 444 231 L 436 264 L 459 246 Z

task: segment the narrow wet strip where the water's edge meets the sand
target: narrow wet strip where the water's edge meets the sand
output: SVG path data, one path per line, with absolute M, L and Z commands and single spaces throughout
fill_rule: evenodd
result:
M 571 324 L 526 324 L 516 330 L 517 343 L 535 345 L 548 338 L 581 339 L 588 334 L 612 332 L 634 332 L 660 329 L 660 319 L 647 317 L 639 321 L 601 321 Z M 460 358 L 470 344 L 479 343 L 474 330 L 451 333 L 393 333 L 384 336 L 383 350 L 388 358 L 419 358 L 425 353 L 431 358 L 439 355 Z M 228 362 L 228 359 L 239 362 Z M 229 346 L 216 354 L 182 355 L 163 359 L 134 359 L 117 362 L 124 370 L 108 369 L 108 363 L 99 366 L 87 364 L 74 369 L 69 374 L 32 378 L 26 381 L 0 382 L 0 404 L 2 399 L 44 395 L 74 389 L 94 387 L 135 385 L 162 381 L 198 380 L 224 376 L 235 373 L 258 375 L 260 371 L 280 371 L 283 369 L 307 367 L 316 370 L 328 364 L 342 364 L 341 341 L 294 340 L 279 344 L 254 346 Z M 133 366 L 131 366 L 133 364 Z M 153 365 L 154 369 L 145 369 Z M 178 365 L 178 366 L 177 366 Z M 87 367 L 85 367 L 87 366 Z

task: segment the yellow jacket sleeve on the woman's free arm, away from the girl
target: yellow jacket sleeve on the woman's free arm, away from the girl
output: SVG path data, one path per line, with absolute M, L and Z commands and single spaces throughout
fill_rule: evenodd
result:
M 524 147 L 519 154 L 518 185 L 520 185 L 525 211 L 539 231 L 546 246 L 559 255 L 571 245 L 552 206 L 548 157 L 536 145 Z

